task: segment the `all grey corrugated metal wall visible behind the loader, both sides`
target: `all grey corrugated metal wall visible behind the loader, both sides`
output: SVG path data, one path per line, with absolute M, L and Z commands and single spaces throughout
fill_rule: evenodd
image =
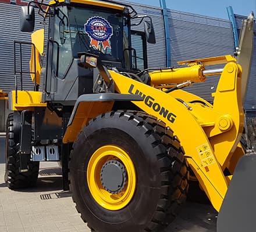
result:
M 23 1 L 24 2 L 24 1 Z M 28 1 L 27 1 L 28 2 Z M 148 67 L 166 67 L 165 31 L 161 8 L 137 4 L 126 1 L 134 6 L 138 14 L 148 14 L 154 23 L 157 44 L 148 44 Z M 0 3 L 0 89 L 8 92 L 14 88 L 13 78 L 13 40 L 30 41 L 30 33 L 19 30 L 20 6 Z M 176 10 L 168 10 L 170 46 L 172 66 L 177 66 L 176 61 L 195 59 L 209 56 L 221 56 L 234 52 L 234 39 L 230 21 L 214 17 L 201 16 Z M 237 27 L 240 28 L 240 17 L 237 16 Z M 41 17 L 36 20 L 36 28 Z M 143 24 L 133 29 L 144 31 Z M 255 43 L 256 44 L 256 43 Z M 25 52 L 25 59 L 30 57 L 30 48 Z M 253 59 L 253 75 L 256 74 L 256 59 Z M 218 77 L 209 77 L 203 84 L 194 84 L 187 88 L 190 92 L 197 93 L 211 101 L 211 93 L 215 92 Z M 250 89 L 246 99 L 246 108 L 253 108 L 255 95 L 253 86 L 255 78 L 250 79 Z M 30 77 L 24 81 L 26 88 L 32 88 Z

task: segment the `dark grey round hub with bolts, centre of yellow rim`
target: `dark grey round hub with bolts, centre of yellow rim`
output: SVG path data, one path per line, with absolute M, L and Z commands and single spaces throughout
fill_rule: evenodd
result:
M 109 160 L 101 168 L 101 183 L 106 191 L 120 193 L 126 184 L 126 168 L 117 160 Z

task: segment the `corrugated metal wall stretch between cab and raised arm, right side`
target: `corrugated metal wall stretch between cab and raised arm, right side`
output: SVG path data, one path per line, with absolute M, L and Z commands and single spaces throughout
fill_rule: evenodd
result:
M 152 17 L 157 44 L 147 45 L 149 67 L 166 67 L 165 33 L 162 9 L 147 5 L 127 2 L 134 6 L 138 14 Z M 211 56 L 223 56 L 234 53 L 232 25 L 229 20 L 201 16 L 176 10 L 168 10 L 170 48 L 172 66 L 177 61 Z M 143 31 L 143 26 L 136 27 Z M 215 66 L 211 68 L 220 68 Z M 211 94 L 215 92 L 219 77 L 209 77 L 204 83 L 186 88 L 212 102 Z

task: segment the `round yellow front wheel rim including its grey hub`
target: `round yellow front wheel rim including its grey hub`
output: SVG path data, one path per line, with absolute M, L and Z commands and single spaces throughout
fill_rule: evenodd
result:
M 87 183 L 102 208 L 118 211 L 128 205 L 136 190 L 136 169 L 130 155 L 120 147 L 99 147 L 87 166 Z

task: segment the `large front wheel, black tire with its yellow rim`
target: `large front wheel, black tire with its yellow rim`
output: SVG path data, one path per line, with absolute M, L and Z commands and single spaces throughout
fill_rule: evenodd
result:
M 129 157 L 118 160 L 113 155 L 115 149 Z M 104 152 L 99 153 L 101 150 Z M 102 173 L 105 175 L 102 170 L 109 165 L 108 158 L 105 165 L 102 160 L 97 161 L 104 157 L 103 154 L 108 154 L 110 160 L 121 166 L 120 170 L 125 166 L 127 171 L 123 179 L 126 185 L 120 193 L 109 194 L 109 202 L 125 195 L 129 184 L 135 185 L 135 190 L 131 188 L 129 192 L 131 199 L 125 205 L 122 202 L 109 204 L 112 209 L 100 205 L 97 198 L 102 189 L 108 198 L 105 183 L 101 185 L 98 180 Z M 92 173 L 94 179 L 91 181 L 88 176 L 90 165 L 95 164 L 91 162 L 94 158 L 101 165 Z M 126 165 L 126 160 L 131 161 L 130 165 Z M 77 211 L 92 231 L 161 231 L 175 219 L 177 209 L 186 200 L 187 168 L 179 141 L 163 122 L 137 111 L 112 111 L 92 119 L 77 137 L 70 160 L 70 190 Z M 114 178 L 105 179 L 109 186 L 113 184 Z

